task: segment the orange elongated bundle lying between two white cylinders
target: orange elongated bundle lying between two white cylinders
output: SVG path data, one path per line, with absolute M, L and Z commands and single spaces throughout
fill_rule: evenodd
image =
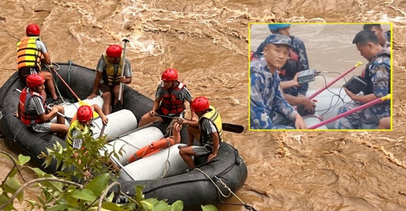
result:
M 169 139 L 169 140 L 168 140 Z M 147 156 L 153 155 L 158 153 L 160 150 L 170 147 L 175 144 L 175 139 L 172 137 L 169 138 L 161 138 L 158 141 L 152 142 L 148 146 L 144 146 L 137 153 L 131 155 L 128 159 L 128 163 L 132 163 L 134 161 L 140 160 L 141 158 L 145 158 Z

